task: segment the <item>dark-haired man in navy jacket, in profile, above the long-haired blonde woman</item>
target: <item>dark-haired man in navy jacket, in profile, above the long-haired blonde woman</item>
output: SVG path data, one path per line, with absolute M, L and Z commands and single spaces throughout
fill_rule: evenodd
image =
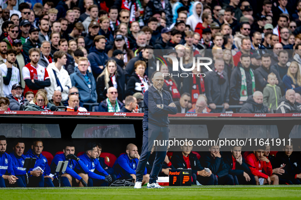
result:
M 105 49 L 105 37 L 96 36 L 94 38 L 93 46 L 88 55 L 88 59 L 91 62 L 91 68 L 94 78 L 97 78 L 104 69 L 105 60 L 108 58 L 107 54 L 104 52 Z

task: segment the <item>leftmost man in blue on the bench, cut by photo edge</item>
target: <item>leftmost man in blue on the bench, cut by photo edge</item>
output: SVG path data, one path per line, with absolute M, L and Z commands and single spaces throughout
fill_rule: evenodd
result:
M 12 157 L 5 152 L 6 146 L 6 137 L 0 136 L 0 187 L 6 187 L 8 183 L 12 185 L 18 179 L 13 170 Z

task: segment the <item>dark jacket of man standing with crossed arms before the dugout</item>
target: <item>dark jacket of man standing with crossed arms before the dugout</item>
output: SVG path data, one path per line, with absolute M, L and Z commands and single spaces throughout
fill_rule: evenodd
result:
M 168 126 L 170 123 L 168 119 L 168 115 L 177 114 L 177 108 L 170 107 L 171 103 L 173 103 L 173 98 L 168 91 L 162 89 L 162 96 L 159 92 L 151 86 L 148 90 L 144 93 L 144 116 L 143 116 L 143 123 L 152 123 L 154 125 L 165 127 Z M 160 109 L 157 105 L 163 104 L 163 108 Z M 145 124 L 144 124 L 145 128 Z

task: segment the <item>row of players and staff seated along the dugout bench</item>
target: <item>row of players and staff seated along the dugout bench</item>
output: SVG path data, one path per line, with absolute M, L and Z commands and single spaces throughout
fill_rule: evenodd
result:
M 25 149 L 29 149 L 28 152 L 25 153 Z M 33 140 L 29 147 L 16 139 L 8 154 L 6 137 L 0 136 L 0 187 L 93 187 L 109 186 L 116 180 L 135 182 L 140 155 L 134 144 L 128 144 L 125 153 L 117 159 L 108 153 L 103 154 L 110 158 L 102 157 L 101 144 L 94 142 L 86 143 L 85 151 L 77 152 L 77 156 L 72 143 L 64 144 L 54 157 L 44 150 L 47 149 L 39 139 Z M 143 184 L 149 182 L 156 155 L 154 150 L 153 147 Z M 301 184 L 300 154 L 293 151 L 291 143 L 273 154 L 270 146 L 258 147 L 254 152 L 242 152 L 241 146 L 233 146 L 231 152 L 221 152 L 218 146 L 211 146 L 208 152 L 198 153 L 192 151 L 193 146 L 184 144 L 181 150 L 166 155 L 159 177 L 169 176 L 171 169 L 191 169 L 193 184 Z M 34 168 L 23 167 L 26 158 L 36 158 Z M 108 163 L 110 159 L 112 162 Z M 59 161 L 68 161 L 63 173 L 56 172 Z

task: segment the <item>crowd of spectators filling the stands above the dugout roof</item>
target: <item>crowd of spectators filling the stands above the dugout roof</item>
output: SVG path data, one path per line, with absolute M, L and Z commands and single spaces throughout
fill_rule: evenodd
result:
M 301 113 L 301 0 L 7 0 L 0 27 L 0 110 L 143 112 L 162 51 L 203 75 L 159 66 L 179 113 Z

